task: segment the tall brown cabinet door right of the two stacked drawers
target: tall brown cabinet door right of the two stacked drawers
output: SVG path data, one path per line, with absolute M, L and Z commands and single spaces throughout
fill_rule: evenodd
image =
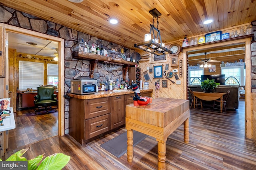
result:
M 111 97 L 111 129 L 125 124 L 124 95 Z

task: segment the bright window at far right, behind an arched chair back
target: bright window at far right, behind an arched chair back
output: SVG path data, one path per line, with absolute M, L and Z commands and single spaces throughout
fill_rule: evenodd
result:
M 244 65 L 242 66 L 225 66 L 221 67 L 221 74 L 225 74 L 225 79 L 228 77 L 234 77 L 239 82 L 241 86 L 244 86 L 245 82 L 245 69 Z M 229 79 L 228 79 L 229 80 Z M 234 83 L 233 83 L 234 82 Z M 236 81 L 228 81 L 226 85 L 238 85 Z

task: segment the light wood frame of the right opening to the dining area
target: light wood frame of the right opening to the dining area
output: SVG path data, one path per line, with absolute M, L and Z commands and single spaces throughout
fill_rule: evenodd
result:
M 251 92 L 251 39 L 252 37 L 244 37 L 240 39 L 235 39 L 230 41 L 222 41 L 222 42 L 216 42 L 211 44 L 202 44 L 196 47 L 188 47 L 183 49 L 183 62 L 184 67 L 183 69 L 184 74 L 187 73 L 188 67 L 186 65 L 186 62 L 188 60 L 187 53 L 188 51 L 197 51 L 197 50 L 203 50 L 203 49 L 210 49 L 211 47 L 224 47 L 226 45 L 230 44 L 239 44 L 244 43 L 245 44 L 245 55 L 244 55 L 244 61 L 246 64 L 246 80 L 245 80 L 245 97 L 244 97 L 244 104 L 245 104 L 245 135 L 246 138 L 252 139 L 252 92 Z M 187 75 L 184 75 L 187 80 Z M 187 91 L 187 86 L 184 86 L 184 92 Z

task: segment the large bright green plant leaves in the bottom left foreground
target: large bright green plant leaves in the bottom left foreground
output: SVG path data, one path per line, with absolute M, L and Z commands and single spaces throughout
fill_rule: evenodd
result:
M 28 150 L 22 149 L 14 154 L 12 154 L 6 161 L 28 161 L 28 170 L 61 170 L 68 164 L 70 156 L 63 153 L 55 153 L 47 156 L 43 159 L 43 155 L 36 156 L 36 158 L 27 160 L 22 155 Z M 2 161 L 0 159 L 0 161 Z M 41 162 L 42 161 L 42 162 Z

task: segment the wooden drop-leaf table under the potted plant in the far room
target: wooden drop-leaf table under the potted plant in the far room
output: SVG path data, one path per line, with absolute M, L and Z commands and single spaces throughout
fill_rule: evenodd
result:
M 195 98 L 199 98 L 201 100 L 206 100 L 206 101 L 214 101 L 217 99 L 220 99 L 220 113 L 222 113 L 222 108 L 223 108 L 223 96 L 226 93 L 218 93 L 218 92 L 197 92 L 197 91 L 193 91 L 192 92 L 194 94 L 194 109 L 195 104 L 196 104 L 196 100 Z

